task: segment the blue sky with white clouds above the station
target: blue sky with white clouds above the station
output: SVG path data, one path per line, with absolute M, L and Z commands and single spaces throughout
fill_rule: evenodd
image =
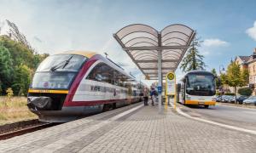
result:
M 14 22 L 40 54 L 107 52 L 125 71 L 143 80 L 113 38 L 122 27 L 139 23 L 160 31 L 176 23 L 189 26 L 203 41 L 199 51 L 207 70 L 219 71 L 237 55 L 253 54 L 255 6 L 254 0 L 0 0 L 0 26 L 3 20 Z M 183 76 L 179 69 L 176 73 L 177 79 Z

